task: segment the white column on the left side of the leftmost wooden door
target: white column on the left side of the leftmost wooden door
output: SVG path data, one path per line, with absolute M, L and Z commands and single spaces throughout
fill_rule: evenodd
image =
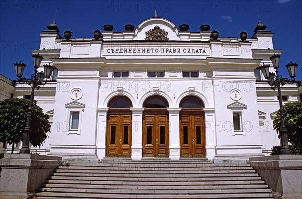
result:
M 106 130 L 108 108 L 98 108 L 97 124 L 97 156 L 103 159 L 106 156 Z

